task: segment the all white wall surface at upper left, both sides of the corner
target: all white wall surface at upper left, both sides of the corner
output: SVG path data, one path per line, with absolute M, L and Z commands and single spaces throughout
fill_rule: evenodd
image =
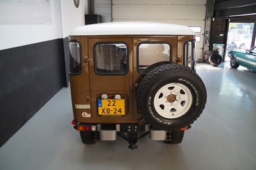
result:
M 0 50 L 66 37 L 74 27 L 84 25 L 85 13 L 85 0 L 80 0 L 78 9 L 74 6 L 73 0 L 51 0 L 52 24 L 0 24 Z

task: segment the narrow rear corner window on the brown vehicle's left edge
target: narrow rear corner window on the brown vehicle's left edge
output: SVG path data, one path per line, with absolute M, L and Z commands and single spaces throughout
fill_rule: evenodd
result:
M 82 72 L 80 43 L 76 40 L 69 41 L 69 74 L 78 75 Z

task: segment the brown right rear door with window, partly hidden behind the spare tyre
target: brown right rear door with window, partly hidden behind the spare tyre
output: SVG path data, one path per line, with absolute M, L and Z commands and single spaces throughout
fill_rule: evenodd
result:
M 133 38 L 133 118 L 140 118 L 137 111 L 136 84 L 152 68 L 172 63 L 177 57 L 177 37 Z

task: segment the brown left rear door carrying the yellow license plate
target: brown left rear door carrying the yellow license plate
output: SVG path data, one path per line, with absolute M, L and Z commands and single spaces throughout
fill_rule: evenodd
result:
M 132 38 L 89 38 L 88 49 L 93 121 L 98 123 L 131 121 Z M 102 94 L 106 94 L 108 99 L 114 99 L 115 95 L 120 95 L 124 100 L 125 108 L 119 110 L 115 103 L 107 103 L 110 107 L 106 112 L 101 108 L 101 105 L 107 102 L 100 100 Z

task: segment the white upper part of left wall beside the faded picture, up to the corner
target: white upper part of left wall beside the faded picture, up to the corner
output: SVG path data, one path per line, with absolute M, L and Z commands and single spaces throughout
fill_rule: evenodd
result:
M 52 24 L 0 25 L 0 50 L 62 38 L 60 0 L 51 1 Z

